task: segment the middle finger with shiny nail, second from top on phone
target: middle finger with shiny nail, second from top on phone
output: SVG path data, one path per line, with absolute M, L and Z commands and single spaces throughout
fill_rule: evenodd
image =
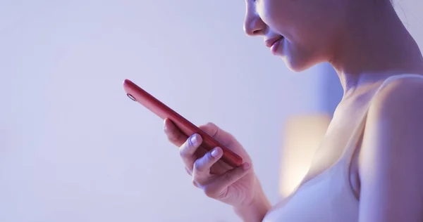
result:
M 202 138 L 199 134 L 195 133 L 190 136 L 183 145 L 179 148 L 180 157 L 182 157 L 185 166 L 192 171 L 194 168 L 194 162 L 197 159 L 195 151 L 200 147 Z

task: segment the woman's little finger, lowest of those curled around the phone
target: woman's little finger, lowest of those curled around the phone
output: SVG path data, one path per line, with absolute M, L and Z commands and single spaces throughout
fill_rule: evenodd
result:
M 203 190 L 208 197 L 220 197 L 227 189 L 240 178 L 250 172 L 251 164 L 244 163 L 237 168 L 226 171 L 225 174 L 214 178 L 212 183 L 204 186 Z

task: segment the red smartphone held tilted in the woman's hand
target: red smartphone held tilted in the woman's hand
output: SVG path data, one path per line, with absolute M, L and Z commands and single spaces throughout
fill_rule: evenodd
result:
M 161 103 L 157 98 L 147 93 L 147 91 L 141 89 L 140 86 L 137 86 L 132 81 L 125 79 L 123 81 L 123 89 L 125 89 L 126 95 L 135 102 L 144 105 L 150 111 L 154 112 L 161 119 L 170 119 L 173 124 L 180 129 L 185 136 L 191 136 L 194 133 L 200 134 L 202 136 L 203 142 L 201 147 L 206 150 L 212 150 L 213 148 L 219 147 L 223 150 L 223 156 L 221 159 L 226 164 L 230 166 L 237 167 L 243 164 L 243 158 L 237 155 L 232 150 L 226 148 L 223 144 L 216 141 L 212 136 L 202 131 L 200 128 L 189 122 L 187 119 L 179 115 L 177 112 L 173 111 L 164 103 Z

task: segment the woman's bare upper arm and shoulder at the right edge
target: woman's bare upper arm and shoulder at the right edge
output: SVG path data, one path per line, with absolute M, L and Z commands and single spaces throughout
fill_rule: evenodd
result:
M 423 79 L 375 96 L 359 157 L 360 222 L 423 221 Z

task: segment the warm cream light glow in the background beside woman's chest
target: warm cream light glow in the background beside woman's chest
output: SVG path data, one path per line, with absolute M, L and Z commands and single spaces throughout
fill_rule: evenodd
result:
M 282 197 L 290 195 L 307 174 L 330 121 L 329 115 L 301 115 L 287 119 L 281 152 L 279 191 Z

